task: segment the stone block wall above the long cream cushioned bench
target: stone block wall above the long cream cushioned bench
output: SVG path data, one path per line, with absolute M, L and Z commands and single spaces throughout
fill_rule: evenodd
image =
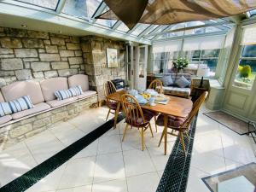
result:
M 0 27 L 0 87 L 84 73 L 79 37 Z

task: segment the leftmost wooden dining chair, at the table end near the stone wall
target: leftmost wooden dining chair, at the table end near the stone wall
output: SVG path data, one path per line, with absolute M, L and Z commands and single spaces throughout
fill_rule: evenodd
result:
M 114 115 L 117 115 L 117 113 L 119 113 L 116 111 L 118 102 L 108 99 L 108 95 L 113 94 L 114 92 L 116 92 L 115 86 L 113 85 L 113 83 L 111 81 L 107 81 L 104 84 L 104 94 L 106 96 L 106 105 L 109 108 L 106 121 L 108 120 L 109 113 L 112 113 Z

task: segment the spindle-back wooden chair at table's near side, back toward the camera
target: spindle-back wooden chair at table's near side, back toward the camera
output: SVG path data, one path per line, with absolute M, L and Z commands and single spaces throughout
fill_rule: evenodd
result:
M 149 128 L 151 136 L 154 137 L 150 125 L 150 120 L 153 118 L 153 114 L 148 110 L 142 110 L 134 96 L 124 94 L 121 96 L 121 101 L 126 123 L 122 141 L 125 140 L 125 134 L 128 126 L 130 125 L 131 128 L 136 127 L 141 134 L 142 149 L 144 150 L 144 132 Z

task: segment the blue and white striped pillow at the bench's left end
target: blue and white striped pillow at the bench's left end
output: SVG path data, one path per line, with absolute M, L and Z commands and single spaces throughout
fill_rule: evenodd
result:
M 33 108 L 29 96 L 22 96 L 11 102 L 0 102 L 0 117 L 6 114 L 17 113 L 26 109 Z

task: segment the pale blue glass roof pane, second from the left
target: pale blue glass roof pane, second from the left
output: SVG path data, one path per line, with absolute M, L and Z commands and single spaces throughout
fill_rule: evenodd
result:
M 63 13 L 82 19 L 91 18 L 102 0 L 66 0 Z

